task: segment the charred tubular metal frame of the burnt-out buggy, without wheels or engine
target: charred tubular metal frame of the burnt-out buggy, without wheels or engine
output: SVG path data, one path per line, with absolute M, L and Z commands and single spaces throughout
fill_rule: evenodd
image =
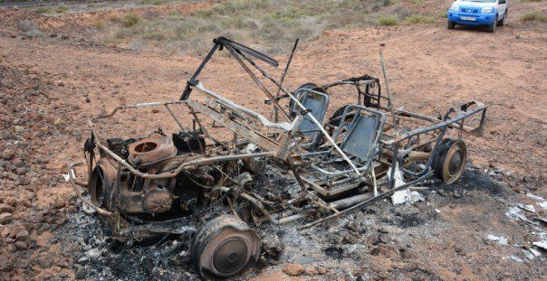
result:
M 117 164 L 116 173 L 120 174 L 121 169 L 126 169 L 129 173 L 134 174 L 135 176 L 148 179 L 148 180 L 159 180 L 159 179 L 169 179 L 176 177 L 179 173 L 186 173 L 189 169 L 208 165 L 208 164 L 219 164 L 223 162 L 232 162 L 238 160 L 246 159 L 259 159 L 259 158 L 275 158 L 281 160 L 283 168 L 292 170 L 294 177 L 297 182 L 300 183 L 302 187 L 302 192 L 297 198 L 293 198 L 287 202 L 289 206 L 293 206 L 293 202 L 302 201 L 303 199 L 308 199 L 318 207 L 325 210 L 330 210 L 333 213 L 329 216 L 322 218 L 321 220 L 316 220 L 310 222 L 303 228 L 312 227 L 320 224 L 326 220 L 331 220 L 340 216 L 342 213 L 356 210 L 366 204 L 369 204 L 374 201 L 379 201 L 386 196 L 389 196 L 391 193 L 398 190 L 408 188 L 411 185 L 417 183 L 423 183 L 427 178 L 433 174 L 433 160 L 434 156 L 437 154 L 439 145 L 446 136 L 446 132 L 449 129 L 456 129 L 460 132 L 466 131 L 481 135 L 485 126 L 485 114 L 486 106 L 472 101 L 465 103 L 456 108 L 451 108 L 446 113 L 445 117 L 442 119 L 437 119 L 434 117 L 427 117 L 424 115 L 419 115 L 416 113 L 394 109 L 392 107 L 392 102 L 390 97 L 385 97 L 381 95 L 379 79 L 370 77 L 368 75 L 360 76 L 357 78 L 351 78 L 348 80 L 342 80 L 339 82 L 334 82 L 321 86 L 322 89 L 331 89 L 333 87 L 350 85 L 354 86 L 357 89 L 357 105 L 352 106 L 353 108 L 359 108 L 370 113 L 378 114 L 381 117 L 381 125 L 379 126 L 379 131 L 377 132 L 377 137 L 374 140 L 374 147 L 370 154 L 367 155 L 365 161 L 354 161 L 350 159 L 350 155 L 347 155 L 342 151 L 340 144 L 335 140 L 337 136 L 340 136 L 342 122 L 347 114 L 348 109 L 344 112 L 344 116 L 341 118 L 341 125 L 336 129 L 336 134 L 331 136 L 326 128 L 323 126 L 320 120 L 316 120 L 310 114 L 308 108 L 305 108 L 301 100 L 296 98 L 295 94 L 288 89 L 283 88 L 283 80 L 286 74 L 286 71 L 289 69 L 290 61 L 292 61 L 294 49 L 296 48 L 296 43 L 291 53 L 289 63 L 283 71 L 283 75 L 280 81 L 273 80 L 263 68 L 261 68 L 253 59 L 266 63 L 270 66 L 277 67 L 279 63 L 267 55 L 264 55 L 261 52 L 254 51 L 251 48 L 248 48 L 240 43 L 230 41 L 224 37 L 218 37 L 214 40 L 214 45 L 211 50 L 207 53 L 206 58 L 198 66 L 195 73 L 192 75 L 190 80 L 187 81 L 187 86 L 184 89 L 180 99 L 178 101 L 168 101 L 168 102 L 152 102 L 152 103 L 140 103 L 133 105 L 124 105 L 118 108 L 114 108 L 110 113 L 101 115 L 99 117 L 92 118 L 89 121 L 89 126 L 91 128 L 91 142 L 88 145 L 87 151 L 90 153 L 88 159 L 89 173 L 91 176 L 92 166 L 94 165 L 94 151 L 95 149 L 100 152 L 101 155 L 108 157 L 112 163 Z M 203 84 L 198 80 L 200 73 L 205 69 L 208 61 L 211 60 L 215 52 L 226 49 L 227 52 L 242 66 L 242 68 L 249 74 L 252 80 L 256 85 L 263 90 L 264 95 L 266 96 L 267 101 L 273 105 L 274 113 L 281 112 L 282 115 L 287 119 L 284 122 L 279 122 L 277 114 L 275 114 L 274 121 L 270 121 L 268 118 L 263 115 L 254 112 L 251 109 L 244 108 L 234 101 L 223 97 L 221 94 L 218 94 L 210 89 L 206 89 Z M 275 87 L 277 87 L 277 93 L 273 94 L 269 89 L 264 86 L 264 83 L 259 80 L 257 75 L 251 69 L 252 66 L 254 70 L 257 70 L 263 78 L 270 81 Z M 377 89 L 376 93 L 372 93 L 373 89 Z M 313 89 L 301 89 L 303 91 L 313 92 Z M 205 95 L 206 102 L 197 101 L 197 99 L 190 98 L 191 94 L 194 91 L 198 91 Z M 280 93 L 283 92 L 283 95 Z M 322 94 L 322 93 L 321 93 Z M 301 95 L 302 96 L 302 95 Z M 297 112 L 299 113 L 296 117 L 292 118 L 287 114 L 285 108 L 283 108 L 280 102 L 283 98 L 289 98 L 292 102 L 298 107 Z M 334 97 L 331 97 L 334 98 Z M 382 99 L 387 101 L 387 105 L 384 106 L 381 102 Z M 122 159 L 119 155 L 116 155 L 108 145 L 101 143 L 101 136 L 97 133 L 95 129 L 95 122 L 100 119 L 108 118 L 114 116 L 119 110 L 122 109 L 134 109 L 134 108 L 152 108 L 152 107 L 163 107 L 166 108 L 168 114 L 173 117 L 175 122 L 178 124 L 182 131 L 187 131 L 183 126 L 183 123 L 178 119 L 178 117 L 171 110 L 171 106 L 186 106 L 190 109 L 190 114 L 194 118 L 193 120 L 199 125 L 199 130 L 206 135 L 212 142 L 213 145 L 223 146 L 227 148 L 226 144 L 216 140 L 215 137 L 210 136 L 207 132 L 206 127 L 202 126 L 202 122 L 198 118 L 198 115 L 203 115 L 211 120 L 215 121 L 221 126 L 225 126 L 229 130 L 233 131 L 235 136 L 243 138 L 245 143 L 254 144 L 260 147 L 262 150 L 258 153 L 249 153 L 244 154 L 240 151 L 228 150 L 225 155 L 210 156 L 204 158 L 197 158 L 190 161 L 184 161 L 176 166 L 171 167 L 167 172 L 163 173 L 143 173 L 139 171 L 134 165 L 128 163 L 126 160 Z M 476 114 L 480 114 L 480 121 L 477 126 L 466 126 L 465 120 L 469 117 L 472 117 Z M 303 117 L 309 117 L 312 122 L 318 126 L 318 131 L 321 132 L 322 136 L 326 139 L 323 144 L 323 148 L 317 151 L 307 151 L 303 149 L 300 145 L 304 144 L 302 141 L 302 132 L 298 131 L 298 127 L 302 122 Z M 393 124 L 389 124 L 386 121 L 386 117 L 393 118 Z M 414 130 L 409 130 L 399 134 L 396 130 L 396 134 L 389 134 L 390 127 L 397 127 L 401 120 L 407 121 L 422 121 L 427 122 L 428 126 L 418 127 Z M 270 130 L 270 133 L 264 134 L 259 132 L 257 128 L 266 128 Z M 425 140 L 422 140 L 422 136 L 427 136 Z M 413 143 L 414 142 L 414 143 Z M 234 145 L 234 144 L 232 144 Z M 430 152 L 424 152 L 424 147 L 427 145 L 433 145 L 433 149 Z M 326 148 L 325 148 L 326 147 Z M 319 167 L 317 164 L 326 161 L 330 163 L 339 163 L 337 159 L 341 158 L 343 161 L 343 168 L 335 171 L 327 171 Z M 420 171 L 411 171 L 408 169 L 409 164 L 413 164 L 415 160 L 426 161 L 426 164 L 423 164 Z M 96 165 L 96 164 L 95 164 Z M 395 172 L 400 167 L 402 172 L 410 179 L 408 183 L 404 183 L 400 186 L 396 186 L 396 181 L 394 178 Z M 367 192 L 371 192 L 368 188 L 373 189 L 372 194 L 360 193 L 358 195 L 350 195 L 348 198 L 344 198 L 338 201 L 328 202 L 329 193 L 320 192 L 321 188 L 317 188 L 317 183 L 314 183 L 312 180 L 307 178 L 307 175 L 311 173 L 319 173 L 321 177 L 326 179 L 323 181 L 326 186 L 334 186 L 337 184 L 351 184 L 348 185 L 350 189 L 362 188 Z M 387 175 L 386 183 L 378 183 Z M 339 177 L 340 176 L 340 177 Z M 338 177 L 338 178 L 336 178 Z M 70 182 L 74 186 L 74 189 L 77 192 L 79 198 L 84 201 L 87 205 L 90 205 L 91 208 L 95 211 L 98 211 L 102 215 L 107 217 L 119 217 L 119 213 L 112 211 L 107 211 L 97 206 L 91 201 L 87 201 L 82 197 L 82 190 L 80 186 L 86 186 L 83 183 L 77 183 L 73 176 L 72 166 L 69 172 Z M 333 178 L 335 178 L 333 180 Z M 119 183 L 116 183 L 119 184 Z M 386 188 L 378 193 L 379 185 L 384 185 Z M 378 186 L 377 186 L 378 185 Z M 365 188 L 367 187 L 367 188 Z M 90 186 L 88 186 L 90 188 Z M 231 191 L 229 187 L 215 187 L 218 192 L 228 193 Z M 345 192 L 345 190 L 344 190 Z M 327 196 L 325 196 L 327 195 Z M 247 192 L 239 193 L 239 196 L 245 201 L 248 201 L 254 205 L 255 208 L 264 213 L 264 217 L 272 223 L 286 223 L 293 220 L 300 220 L 303 218 L 308 218 L 311 213 L 310 211 L 304 211 L 304 208 L 295 208 L 292 207 L 292 210 L 286 212 L 289 215 L 283 216 L 283 213 L 270 213 L 265 210 L 264 205 L 260 198 L 254 196 L 253 194 Z M 327 197 L 327 198 L 325 198 Z M 168 232 L 168 233 L 178 233 L 180 234 L 177 228 L 171 227 L 172 224 L 179 225 L 185 223 L 187 220 L 181 218 L 179 220 L 169 220 L 161 222 L 152 222 L 147 225 L 139 226 L 138 229 L 133 229 L 143 236 L 150 233 L 157 232 Z M 158 230 L 163 229 L 163 230 Z M 169 230 L 170 229 L 170 230 Z M 120 230 L 120 236 L 131 236 L 135 235 L 133 232 L 130 232 L 127 229 L 123 229 L 118 224 L 118 230 Z M 178 232 L 177 232 L 178 231 Z M 185 230 L 186 231 L 186 230 Z M 133 233 L 133 234 L 131 234 Z

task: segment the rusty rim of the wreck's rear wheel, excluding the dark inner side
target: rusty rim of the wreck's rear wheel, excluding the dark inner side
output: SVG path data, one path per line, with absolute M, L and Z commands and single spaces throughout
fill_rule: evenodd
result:
M 448 149 L 443 161 L 443 182 L 456 182 L 465 170 L 467 151 L 461 140 L 454 142 Z

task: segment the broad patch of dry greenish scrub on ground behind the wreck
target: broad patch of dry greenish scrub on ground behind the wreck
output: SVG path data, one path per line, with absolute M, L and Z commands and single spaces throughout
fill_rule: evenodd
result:
M 146 3 L 165 0 L 138 0 Z M 219 35 L 246 42 L 264 52 L 281 52 L 290 48 L 296 38 L 312 41 L 325 30 L 358 28 L 371 24 L 398 25 L 410 12 L 395 7 L 380 16 L 384 7 L 399 0 L 226 0 L 210 8 L 183 14 L 165 13 L 121 14 L 106 21 L 108 28 L 100 32 L 99 41 L 138 47 L 153 45 L 166 52 L 206 52 L 210 42 Z M 423 19 L 420 19 L 423 21 Z

